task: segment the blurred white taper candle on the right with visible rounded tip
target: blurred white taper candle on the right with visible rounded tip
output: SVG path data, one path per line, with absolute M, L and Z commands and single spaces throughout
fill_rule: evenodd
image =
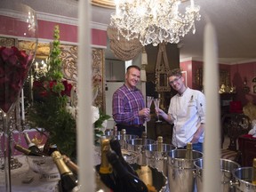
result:
M 206 123 L 204 139 L 204 190 L 220 191 L 220 95 L 218 47 L 212 23 L 204 28 L 204 92 Z

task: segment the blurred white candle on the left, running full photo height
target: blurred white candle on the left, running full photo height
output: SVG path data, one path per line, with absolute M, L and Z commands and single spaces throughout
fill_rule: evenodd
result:
M 91 1 L 78 1 L 78 119 L 77 151 L 80 191 L 95 191 L 92 134 Z

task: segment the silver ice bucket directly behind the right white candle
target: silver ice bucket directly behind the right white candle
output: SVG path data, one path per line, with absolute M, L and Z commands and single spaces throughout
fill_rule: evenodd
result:
M 196 166 L 196 188 L 197 192 L 203 192 L 203 172 L 204 172 L 204 160 L 198 159 L 194 162 Z M 232 172 L 240 167 L 234 161 L 228 159 L 220 159 L 220 172 L 221 172 L 221 184 L 220 192 L 233 192 L 235 188 L 231 186 L 231 181 L 234 180 Z

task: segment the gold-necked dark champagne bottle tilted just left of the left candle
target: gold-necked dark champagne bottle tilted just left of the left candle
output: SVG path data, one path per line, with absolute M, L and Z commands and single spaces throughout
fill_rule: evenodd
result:
M 78 182 L 73 172 L 64 163 L 59 151 L 52 152 L 53 162 L 60 172 L 60 188 L 63 192 L 76 192 L 79 190 Z M 61 190 L 60 190 L 61 191 Z

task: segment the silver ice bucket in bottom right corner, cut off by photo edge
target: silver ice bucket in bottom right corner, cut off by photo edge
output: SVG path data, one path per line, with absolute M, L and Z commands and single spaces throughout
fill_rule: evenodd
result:
M 253 170 L 252 167 L 241 167 L 233 171 L 233 176 L 236 180 L 232 185 L 235 186 L 236 191 L 254 192 L 256 185 L 252 184 Z

